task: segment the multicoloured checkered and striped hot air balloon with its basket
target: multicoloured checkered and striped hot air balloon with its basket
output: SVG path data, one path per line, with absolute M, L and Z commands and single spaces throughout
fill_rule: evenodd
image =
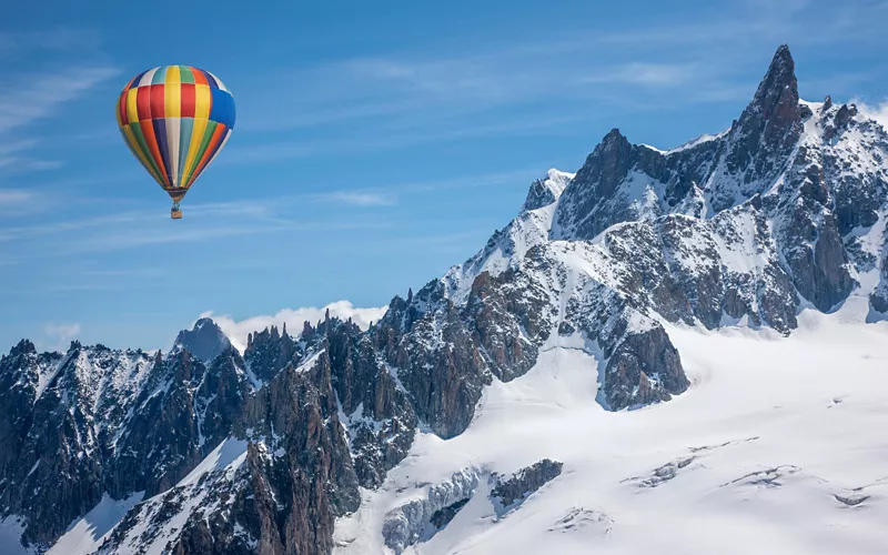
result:
M 182 218 L 179 203 L 231 137 L 234 98 L 209 71 L 164 65 L 130 81 L 117 108 L 123 140 Z

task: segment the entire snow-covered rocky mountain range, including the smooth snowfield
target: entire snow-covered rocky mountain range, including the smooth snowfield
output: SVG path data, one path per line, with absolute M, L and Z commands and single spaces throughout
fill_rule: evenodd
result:
M 610 131 L 369 330 L 22 341 L 0 547 L 878 553 L 886 157 L 852 104 L 799 100 L 780 47 L 730 129 Z

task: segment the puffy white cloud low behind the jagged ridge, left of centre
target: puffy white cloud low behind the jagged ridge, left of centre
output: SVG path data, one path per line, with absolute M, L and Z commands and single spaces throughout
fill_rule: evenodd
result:
M 324 314 L 330 310 L 331 317 L 339 317 L 341 320 L 352 319 L 362 330 L 366 330 L 371 322 L 380 320 L 387 306 L 380 306 L 376 309 L 359 309 L 349 301 L 336 301 L 320 309 L 315 306 L 303 306 L 301 309 L 283 309 L 278 311 L 273 316 L 262 315 L 252 316 L 244 320 L 235 321 L 228 314 L 215 315 L 212 311 L 204 312 L 200 317 L 211 317 L 219 327 L 229 336 L 231 344 L 239 351 L 243 352 L 246 349 L 246 335 L 253 332 L 262 331 L 270 325 L 283 327 L 287 326 L 287 333 L 291 335 L 299 335 L 302 332 L 304 322 L 310 322 L 312 325 L 317 321 L 324 319 Z

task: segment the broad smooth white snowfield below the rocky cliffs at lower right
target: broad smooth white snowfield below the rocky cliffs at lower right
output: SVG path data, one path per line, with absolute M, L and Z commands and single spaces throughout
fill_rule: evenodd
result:
M 475 470 L 465 507 L 405 553 L 884 554 L 888 322 L 866 312 L 804 311 L 788 337 L 664 322 L 694 385 L 615 413 L 594 401 L 595 345 L 553 334 L 531 372 L 486 391 L 464 434 L 420 434 L 339 522 L 334 553 L 392 553 L 386 514 Z M 544 457 L 563 474 L 497 522 L 484 475 Z

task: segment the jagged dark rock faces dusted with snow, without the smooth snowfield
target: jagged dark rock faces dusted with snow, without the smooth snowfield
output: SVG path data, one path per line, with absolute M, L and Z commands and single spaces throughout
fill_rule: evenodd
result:
M 689 386 L 668 323 L 790 334 L 799 307 L 849 300 L 885 317 L 888 133 L 852 104 L 799 100 L 794 69 L 780 47 L 717 135 L 660 151 L 610 131 L 369 330 L 272 326 L 243 353 L 208 319 L 165 354 L 20 342 L 0 359 L 3 524 L 42 553 L 103 500 L 132 500 L 84 553 L 326 554 L 336 517 L 416 434 L 463 433 L 487 385 L 558 339 L 595 355 L 597 401 L 617 411 Z M 509 505 L 559 472 L 543 461 L 495 496 Z M 391 515 L 386 545 L 446 526 L 480 475 Z

